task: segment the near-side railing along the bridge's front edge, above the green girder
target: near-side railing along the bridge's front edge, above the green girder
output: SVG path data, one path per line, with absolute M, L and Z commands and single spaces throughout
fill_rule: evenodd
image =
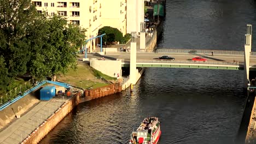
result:
M 124 63 L 130 63 L 130 60 L 122 59 Z M 184 63 L 184 64 L 213 64 L 213 65 L 243 65 L 243 62 L 193 62 L 191 60 L 188 61 L 177 61 L 177 60 L 165 60 L 165 59 L 137 59 L 137 63 Z

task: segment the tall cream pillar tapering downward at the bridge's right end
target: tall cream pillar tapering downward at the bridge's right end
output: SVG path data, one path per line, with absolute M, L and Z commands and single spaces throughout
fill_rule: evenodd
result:
M 245 70 L 245 88 L 248 88 L 250 55 L 252 51 L 252 25 L 247 25 L 247 34 L 245 34 L 245 60 L 243 68 Z

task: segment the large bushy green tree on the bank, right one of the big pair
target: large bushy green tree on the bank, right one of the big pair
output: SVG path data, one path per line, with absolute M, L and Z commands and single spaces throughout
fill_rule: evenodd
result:
M 65 73 L 75 68 L 76 54 L 85 41 L 85 29 L 67 25 L 67 20 L 59 16 L 46 19 L 44 15 L 35 21 L 35 27 L 28 37 L 32 52 L 27 67 L 37 79 Z

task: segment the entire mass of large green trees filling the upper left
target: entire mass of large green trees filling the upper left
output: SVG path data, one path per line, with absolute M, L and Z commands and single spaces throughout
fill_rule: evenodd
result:
M 85 29 L 38 14 L 30 0 L 0 0 L 0 85 L 25 73 L 36 79 L 75 67 Z

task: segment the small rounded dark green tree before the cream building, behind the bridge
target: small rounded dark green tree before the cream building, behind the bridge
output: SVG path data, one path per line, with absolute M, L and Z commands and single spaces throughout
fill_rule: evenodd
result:
M 103 36 L 102 41 L 105 43 L 112 43 L 114 41 L 124 41 L 123 34 L 117 29 L 109 26 L 102 27 L 98 29 L 98 34 L 106 33 L 106 35 Z

